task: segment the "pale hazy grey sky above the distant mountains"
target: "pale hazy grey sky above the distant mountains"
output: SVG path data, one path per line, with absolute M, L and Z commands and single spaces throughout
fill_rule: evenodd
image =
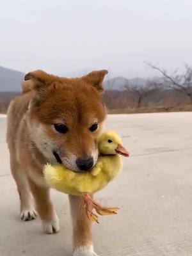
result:
M 191 0 L 6 0 L 0 4 L 0 65 L 56 74 L 108 68 L 154 75 L 192 65 Z M 156 74 L 156 73 L 155 73 Z

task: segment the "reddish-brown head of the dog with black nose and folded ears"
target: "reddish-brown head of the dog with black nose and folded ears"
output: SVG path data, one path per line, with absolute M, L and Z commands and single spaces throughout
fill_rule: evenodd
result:
M 69 79 L 36 70 L 24 77 L 23 91 L 34 93 L 28 110 L 31 140 L 50 163 L 81 172 L 97 162 L 97 137 L 106 117 L 100 94 L 107 73 Z

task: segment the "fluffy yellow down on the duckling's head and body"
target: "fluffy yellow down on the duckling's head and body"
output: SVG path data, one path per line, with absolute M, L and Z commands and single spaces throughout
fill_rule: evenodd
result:
M 112 142 L 109 143 L 108 141 Z M 122 170 L 122 159 L 115 148 L 121 144 L 116 132 L 103 132 L 98 140 L 99 152 L 107 154 L 99 159 L 90 172 L 73 172 L 63 164 L 46 164 L 45 180 L 52 188 L 70 195 L 94 193 L 104 188 Z

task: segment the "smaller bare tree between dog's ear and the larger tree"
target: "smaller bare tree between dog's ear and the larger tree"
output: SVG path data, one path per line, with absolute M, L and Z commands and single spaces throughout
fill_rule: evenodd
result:
M 125 89 L 131 94 L 132 99 L 136 102 L 136 108 L 141 107 L 143 99 L 150 93 L 155 92 L 159 88 L 156 81 L 148 80 L 144 86 L 126 84 Z

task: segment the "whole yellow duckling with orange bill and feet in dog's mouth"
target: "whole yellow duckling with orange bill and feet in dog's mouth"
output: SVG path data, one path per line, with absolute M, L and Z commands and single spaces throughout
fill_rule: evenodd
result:
M 122 146 L 118 134 L 113 131 L 103 132 L 98 139 L 99 158 L 90 172 L 73 172 L 57 164 L 45 166 L 44 175 L 47 184 L 52 188 L 70 195 L 79 195 L 84 198 L 84 207 L 90 220 L 98 222 L 98 216 L 92 212 L 93 209 L 100 215 L 116 214 L 117 207 L 102 207 L 89 194 L 104 188 L 109 181 L 122 170 L 122 159 L 120 155 L 128 157 L 129 152 Z

